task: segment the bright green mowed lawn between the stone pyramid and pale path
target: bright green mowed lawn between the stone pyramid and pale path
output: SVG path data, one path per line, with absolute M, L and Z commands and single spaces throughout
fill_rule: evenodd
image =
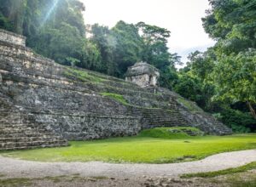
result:
M 194 161 L 232 150 L 256 149 L 256 133 L 189 136 L 183 132 L 170 133 L 170 129 L 175 128 L 156 128 L 135 137 L 71 141 L 70 146 L 61 148 L 0 151 L 0 155 L 30 161 L 170 163 Z

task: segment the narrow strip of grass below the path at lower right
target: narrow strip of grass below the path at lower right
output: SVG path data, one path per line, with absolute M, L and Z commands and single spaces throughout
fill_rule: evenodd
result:
M 252 170 L 252 169 L 256 169 L 256 162 L 251 162 L 251 163 L 241 166 L 241 167 L 224 169 L 224 170 L 220 170 L 217 172 L 183 174 L 181 176 L 181 178 L 213 178 L 213 177 L 217 177 L 220 175 L 243 173 L 243 172 L 247 172 L 248 170 Z

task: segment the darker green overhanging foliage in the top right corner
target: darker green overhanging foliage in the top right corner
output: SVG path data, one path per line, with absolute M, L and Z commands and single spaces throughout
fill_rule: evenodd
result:
M 210 37 L 217 39 L 225 52 L 237 53 L 255 48 L 256 2 L 209 0 L 203 26 Z

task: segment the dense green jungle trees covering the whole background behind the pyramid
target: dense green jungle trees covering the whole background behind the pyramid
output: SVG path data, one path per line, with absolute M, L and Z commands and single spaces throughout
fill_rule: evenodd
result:
M 0 28 L 26 36 L 28 47 L 62 65 L 114 77 L 123 78 L 127 67 L 147 61 L 160 69 L 160 86 L 196 102 L 235 132 L 255 132 L 256 1 L 208 1 L 202 25 L 216 44 L 191 53 L 179 71 L 179 56 L 167 48 L 171 31 L 122 20 L 113 28 L 85 26 L 79 0 L 0 0 Z M 79 71 L 66 73 L 84 82 L 102 81 Z

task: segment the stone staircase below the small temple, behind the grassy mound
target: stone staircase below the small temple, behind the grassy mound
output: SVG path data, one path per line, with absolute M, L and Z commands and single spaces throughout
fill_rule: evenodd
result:
M 166 111 L 154 108 L 135 108 L 132 112 L 135 115 L 143 116 L 143 128 L 189 125 L 178 111 Z

